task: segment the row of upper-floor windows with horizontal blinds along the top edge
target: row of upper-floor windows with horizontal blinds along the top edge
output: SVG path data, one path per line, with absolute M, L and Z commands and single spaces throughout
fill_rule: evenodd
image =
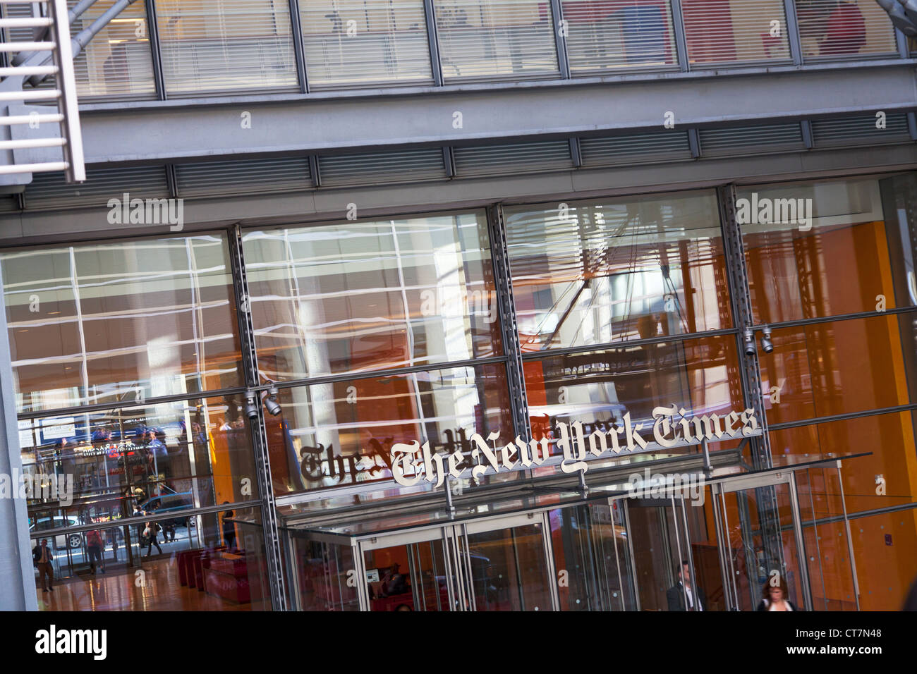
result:
M 115 0 L 98 0 L 72 25 L 88 28 Z M 445 83 L 558 77 L 558 41 L 571 74 L 679 68 L 684 27 L 692 69 L 789 62 L 783 0 L 428 0 Z M 276 0 L 145 0 L 123 10 L 77 59 L 80 94 L 155 95 L 149 12 L 171 95 L 298 90 L 290 5 Z M 76 0 L 69 0 L 71 6 Z M 897 51 L 889 17 L 873 0 L 797 2 L 802 58 Z M 435 81 L 424 0 L 299 0 L 311 89 L 424 85 Z

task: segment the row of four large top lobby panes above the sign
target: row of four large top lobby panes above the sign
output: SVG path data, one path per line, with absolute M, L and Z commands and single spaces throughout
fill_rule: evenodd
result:
M 757 323 L 917 305 L 901 202 L 915 181 L 740 193 Z M 514 206 L 505 222 L 524 353 L 734 326 L 712 190 Z M 483 211 L 253 229 L 243 252 L 265 380 L 507 356 Z M 0 262 L 20 413 L 244 384 L 225 234 L 10 249 Z

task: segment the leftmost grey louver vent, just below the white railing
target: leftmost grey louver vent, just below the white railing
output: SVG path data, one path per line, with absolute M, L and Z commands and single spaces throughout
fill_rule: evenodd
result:
M 168 197 L 169 185 L 162 166 L 132 169 L 89 169 L 86 182 L 63 182 L 63 173 L 36 173 L 26 187 L 26 208 L 48 210 L 64 206 L 100 206 L 109 199 Z

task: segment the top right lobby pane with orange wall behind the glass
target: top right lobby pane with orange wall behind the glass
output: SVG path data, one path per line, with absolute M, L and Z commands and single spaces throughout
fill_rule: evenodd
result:
M 811 200 L 807 207 L 811 222 L 790 223 L 794 219 L 790 213 L 781 218 L 785 224 L 742 224 L 758 322 L 917 304 L 911 226 L 906 218 L 886 222 L 877 181 L 749 187 L 739 198 L 760 204 L 758 213 L 763 215 L 767 215 L 761 210 L 763 204 L 776 204 L 776 200 L 799 204 L 803 200 L 804 205 Z M 749 207 L 748 220 L 751 210 Z

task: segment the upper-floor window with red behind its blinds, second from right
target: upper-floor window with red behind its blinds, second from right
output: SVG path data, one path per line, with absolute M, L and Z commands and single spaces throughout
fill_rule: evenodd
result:
M 681 0 L 681 13 L 695 68 L 790 60 L 783 0 Z

